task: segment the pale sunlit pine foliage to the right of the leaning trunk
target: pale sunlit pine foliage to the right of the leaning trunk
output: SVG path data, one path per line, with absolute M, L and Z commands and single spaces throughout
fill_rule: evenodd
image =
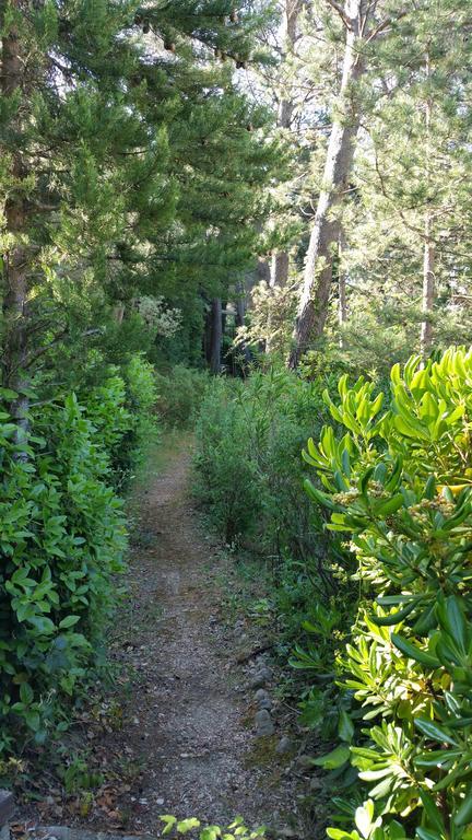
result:
M 344 217 L 356 342 L 366 295 L 385 347 L 394 331 L 400 348 L 424 354 L 470 340 L 467 27 L 467 3 L 428 2 L 376 44 Z

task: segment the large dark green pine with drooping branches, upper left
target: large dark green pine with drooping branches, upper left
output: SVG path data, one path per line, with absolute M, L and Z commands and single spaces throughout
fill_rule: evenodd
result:
M 274 150 L 233 82 L 250 8 L 1 3 L 3 386 L 27 390 L 52 349 L 86 352 L 140 291 L 188 298 L 191 278 L 198 298 L 252 256 Z

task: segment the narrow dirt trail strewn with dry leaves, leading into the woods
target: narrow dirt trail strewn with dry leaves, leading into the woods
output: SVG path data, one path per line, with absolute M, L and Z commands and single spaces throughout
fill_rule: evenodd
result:
M 127 830 L 155 833 L 163 813 L 213 824 L 240 814 L 294 836 L 296 782 L 275 752 L 280 735 L 255 735 L 253 690 L 237 664 L 240 628 L 222 621 L 216 547 L 192 509 L 182 447 L 139 502 L 127 626 L 114 654 L 134 676 L 122 728 L 106 736 L 115 755 L 141 768 Z M 270 761 L 260 760 L 266 748 Z

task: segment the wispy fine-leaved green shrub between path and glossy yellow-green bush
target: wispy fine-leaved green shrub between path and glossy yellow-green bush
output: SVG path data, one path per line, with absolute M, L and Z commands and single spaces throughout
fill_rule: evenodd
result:
M 321 390 L 276 369 L 210 388 L 197 423 L 197 493 L 226 538 L 303 562 L 327 552 L 299 456 L 327 415 Z

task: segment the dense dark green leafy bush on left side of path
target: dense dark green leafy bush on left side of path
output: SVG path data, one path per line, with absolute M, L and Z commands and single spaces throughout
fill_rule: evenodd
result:
M 108 413 L 117 393 L 116 381 L 103 393 Z M 46 739 L 114 607 L 126 529 L 104 441 L 118 444 L 121 408 L 104 434 L 69 396 L 32 413 L 22 446 L 0 415 L 0 754 L 21 732 Z

